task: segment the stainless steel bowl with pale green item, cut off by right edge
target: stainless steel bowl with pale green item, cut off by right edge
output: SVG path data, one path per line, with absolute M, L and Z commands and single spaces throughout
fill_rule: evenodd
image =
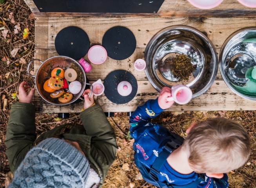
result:
M 250 72 L 256 67 L 256 27 L 240 29 L 227 38 L 219 65 L 223 80 L 234 93 L 256 100 L 256 80 Z

